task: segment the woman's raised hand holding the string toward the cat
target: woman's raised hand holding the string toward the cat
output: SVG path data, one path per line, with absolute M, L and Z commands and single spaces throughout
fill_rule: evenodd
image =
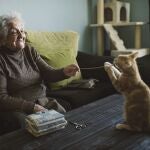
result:
M 79 67 L 75 64 L 71 64 L 65 67 L 63 71 L 66 76 L 71 77 L 71 76 L 76 75 L 76 72 L 79 71 Z

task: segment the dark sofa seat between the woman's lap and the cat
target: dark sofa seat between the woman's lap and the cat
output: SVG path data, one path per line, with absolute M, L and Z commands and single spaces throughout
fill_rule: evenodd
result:
M 47 96 L 68 101 L 74 109 L 114 93 L 116 93 L 116 90 L 110 82 L 99 82 L 92 89 L 62 88 L 61 90 L 48 91 Z

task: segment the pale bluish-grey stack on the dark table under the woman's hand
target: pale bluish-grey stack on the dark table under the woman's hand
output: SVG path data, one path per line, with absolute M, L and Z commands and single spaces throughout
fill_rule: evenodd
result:
M 63 129 L 66 124 L 64 115 L 55 110 L 38 112 L 26 117 L 26 129 L 35 137 Z

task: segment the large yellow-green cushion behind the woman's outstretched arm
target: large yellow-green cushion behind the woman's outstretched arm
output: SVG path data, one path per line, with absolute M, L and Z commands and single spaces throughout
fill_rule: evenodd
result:
M 44 57 L 50 66 L 62 68 L 70 64 L 77 64 L 79 35 L 76 32 L 37 32 L 28 31 L 31 45 Z M 52 89 L 65 87 L 73 80 L 81 79 L 81 72 L 69 79 L 50 83 Z

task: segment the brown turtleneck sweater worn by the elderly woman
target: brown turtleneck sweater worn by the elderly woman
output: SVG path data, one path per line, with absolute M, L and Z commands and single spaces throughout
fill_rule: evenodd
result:
M 46 97 L 43 81 L 56 82 L 65 78 L 62 69 L 50 67 L 29 45 L 17 52 L 1 47 L 0 111 L 32 113 L 35 102 Z

